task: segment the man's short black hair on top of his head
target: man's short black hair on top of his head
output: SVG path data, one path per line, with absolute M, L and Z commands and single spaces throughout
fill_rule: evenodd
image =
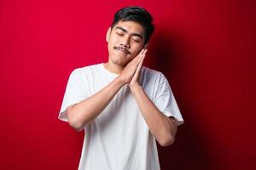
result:
M 144 44 L 149 41 L 154 32 L 154 25 L 152 23 L 153 17 L 145 8 L 137 6 L 120 8 L 119 11 L 114 14 L 111 28 L 113 28 L 119 22 L 119 20 L 134 21 L 142 25 L 144 27 Z

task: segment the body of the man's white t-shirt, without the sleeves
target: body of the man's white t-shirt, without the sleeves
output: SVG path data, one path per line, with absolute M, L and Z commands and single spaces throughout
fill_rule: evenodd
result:
M 84 67 L 81 71 L 89 95 L 96 94 L 118 76 L 105 70 L 102 64 Z M 152 87 L 157 78 L 152 78 L 152 72 L 148 71 L 143 67 L 141 82 L 154 101 Z M 155 139 L 127 85 L 84 130 L 80 170 L 160 169 Z

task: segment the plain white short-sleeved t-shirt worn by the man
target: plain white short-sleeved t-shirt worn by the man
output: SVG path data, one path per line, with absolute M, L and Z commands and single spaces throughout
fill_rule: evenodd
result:
M 103 64 L 75 69 L 67 82 L 59 119 L 67 120 L 67 106 L 96 94 L 118 75 Z M 149 99 L 166 116 L 183 117 L 166 77 L 143 66 L 141 85 Z M 154 136 L 149 132 L 137 102 L 127 85 L 109 105 L 84 127 L 84 144 L 79 170 L 158 170 L 160 163 Z

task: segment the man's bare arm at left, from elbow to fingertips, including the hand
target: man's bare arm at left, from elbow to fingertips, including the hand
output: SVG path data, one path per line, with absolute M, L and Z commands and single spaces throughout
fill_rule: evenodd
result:
M 89 124 L 96 116 L 100 115 L 115 94 L 119 92 L 119 89 L 131 81 L 142 57 L 143 50 L 125 66 L 119 77 L 115 78 L 105 88 L 78 104 L 68 106 L 66 111 L 70 126 L 80 131 L 84 125 Z

